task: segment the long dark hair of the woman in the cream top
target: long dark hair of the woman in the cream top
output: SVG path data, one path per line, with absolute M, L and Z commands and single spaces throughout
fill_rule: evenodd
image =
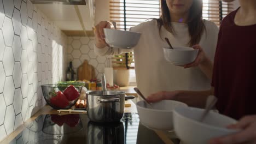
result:
M 161 32 L 161 27 L 164 26 L 167 31 L 175 34 L 175 31 L 171 25 L 170 11 L 167 7 L 166 0 L 160 0 L 161 3 L 161 16 L 156 19 L 159 26 L 159 33 Z M 198 44 L 201 40 L 203 30 L 205 29 L 205 24 L 202 20 L 202 0 L 193 0 L 193 4 L 189 10 L 188 16 L 188 30 L 190 35 L 189 46 Z

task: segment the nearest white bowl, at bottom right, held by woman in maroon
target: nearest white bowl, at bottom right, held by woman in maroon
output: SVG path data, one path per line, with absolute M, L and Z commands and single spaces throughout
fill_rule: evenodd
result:
M 173 114 L 174 131 L 183 144 L 205 144 L 214 137 L 235 133 L 225 127 L 236 123 L 235 119 L 211 111 L 205 121 L 199 122 L 203 109 L 176 107 Z

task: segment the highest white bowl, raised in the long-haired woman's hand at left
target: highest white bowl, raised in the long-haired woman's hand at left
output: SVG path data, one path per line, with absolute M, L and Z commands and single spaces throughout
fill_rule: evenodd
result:
M 138 43 L 141 37 L 140 33 L 130 31 L 120 31 L 117 29 L 103 29 L 106 43 L 112 47 L 119 47 L 122 49 L 131 49 Z

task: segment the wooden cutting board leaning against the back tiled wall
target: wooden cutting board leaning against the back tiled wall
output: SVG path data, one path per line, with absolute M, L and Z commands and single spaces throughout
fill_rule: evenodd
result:
M 81 64 L 78 69 L 78 80 L 91 80 L 91 79 L 95 79 L 95 69 L 92 65 L 90 65 L 88 63 L 87 60 L 84 61 L 83 64 Z

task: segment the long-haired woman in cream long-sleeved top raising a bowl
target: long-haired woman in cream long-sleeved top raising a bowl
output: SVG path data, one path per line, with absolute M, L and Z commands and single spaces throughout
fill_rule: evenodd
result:
M 211 72 L 201 65 L 184 69 L 166 61 L 162 47 L 167 37 L 173 46 L 199 44 L 213 61 L 218 27 L 202 19 L 201 0 L 161 0 L 161 17 L 130 28 L 141 33 L 133 47 L 137 87 L 144 95 L 159 91 L 203 91 L 210 89 Z M 113 28 L 108 21 L 95 27 L 95 53 L 100 56 L 118 55 L 132 50 L 109 47 L 104 41 L 103 28 Z

